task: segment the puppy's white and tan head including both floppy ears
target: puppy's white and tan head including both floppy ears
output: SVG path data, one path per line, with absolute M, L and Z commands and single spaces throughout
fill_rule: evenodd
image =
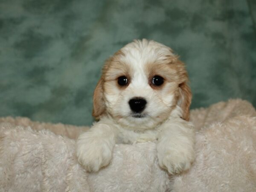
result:
M 106 61 L 93 97 L 93 116 L 106 113 L 119 124 L 154 128 L 169 116 L 188 120 L 191 92 L 184 64 L 169 47 L 134 41 Z

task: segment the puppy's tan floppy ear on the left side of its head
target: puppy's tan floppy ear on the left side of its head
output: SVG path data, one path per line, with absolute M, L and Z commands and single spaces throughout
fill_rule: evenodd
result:
M 105 113 L 105 102 L 103 98 L 103 79 L 99 79 L 93 93 L 93 117 L 98 120 Z

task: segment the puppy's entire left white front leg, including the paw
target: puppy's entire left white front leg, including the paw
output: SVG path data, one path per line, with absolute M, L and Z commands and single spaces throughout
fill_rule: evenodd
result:
M 76 142 L 79 163 L 89 172 L 97 172 L 107 166 L 112 158 L 116 140 L 116 128 L 109 119 L 102 119 L 81 134 Z

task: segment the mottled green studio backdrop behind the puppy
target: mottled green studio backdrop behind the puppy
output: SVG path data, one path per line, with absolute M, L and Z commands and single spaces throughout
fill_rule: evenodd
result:
M 255 0 L 0 0 L 0 116 L 90 125 L 105 59 L 137 38 L 187 64 L 192 108 L 256 106 Z

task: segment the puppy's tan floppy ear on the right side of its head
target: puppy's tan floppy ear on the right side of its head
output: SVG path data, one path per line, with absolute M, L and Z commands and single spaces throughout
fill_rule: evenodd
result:
M 182 119 L 189 121 L 189 107 L 192 100 L 191 89 L 186 82 L 179 84 L 180 87 L 180 107 L 183 111 Z

